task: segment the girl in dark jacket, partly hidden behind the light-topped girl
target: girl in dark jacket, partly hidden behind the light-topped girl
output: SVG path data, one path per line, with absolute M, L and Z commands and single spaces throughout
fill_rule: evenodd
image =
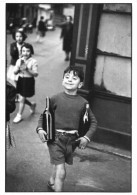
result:
M 17 84 L 18 76 L 14 74 L 14 66 L 16 61 L 21 57 L 21 46 L 24 44 L 27 35 L 23 31 L 17 29 L 13 34 L 13 39 L 15 40 L 10 45 L 10 55 L 11 62 L 7 72 L 7 80 L 12 83 L 15 87 Z

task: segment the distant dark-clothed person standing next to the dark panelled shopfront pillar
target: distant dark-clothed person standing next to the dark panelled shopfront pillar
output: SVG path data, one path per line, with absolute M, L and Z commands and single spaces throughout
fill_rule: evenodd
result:
M 61 36 L 63 39 L 63 51 L 65 52 L 65 61 L 70 59 L 70 52 L 72 48 L 72 38 L 73 38 L 73 24 L 72 17 L 66 16 L 66 22 L 61 26 Z

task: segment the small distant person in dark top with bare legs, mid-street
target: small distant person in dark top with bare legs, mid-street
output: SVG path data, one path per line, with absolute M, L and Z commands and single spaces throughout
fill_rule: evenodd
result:
M 40 17 L 40 21 L 38 23 L 36 42 L 42 42 L 43 41 L 43 37 L 45 37 L 45 33 L 46 33 L 46 25 L 45 25 L 45 22 L 44 22 L 44 17 L 41 16 Z

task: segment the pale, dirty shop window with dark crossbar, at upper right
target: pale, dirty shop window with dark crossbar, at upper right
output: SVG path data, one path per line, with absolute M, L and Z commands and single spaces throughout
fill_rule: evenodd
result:
M 95 89 L 130 98 L 131 14 L 127 14 L 130 6 L 109 4 L 104 5 L 103 10 L 97 41 Z

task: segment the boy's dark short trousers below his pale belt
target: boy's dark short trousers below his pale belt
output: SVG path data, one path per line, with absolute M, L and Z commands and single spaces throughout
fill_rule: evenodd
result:
M 76 149 L 76 134 L 57 132 L 54 142 L 47 142 L 51 164 L 73 164 L 73 152 Z

